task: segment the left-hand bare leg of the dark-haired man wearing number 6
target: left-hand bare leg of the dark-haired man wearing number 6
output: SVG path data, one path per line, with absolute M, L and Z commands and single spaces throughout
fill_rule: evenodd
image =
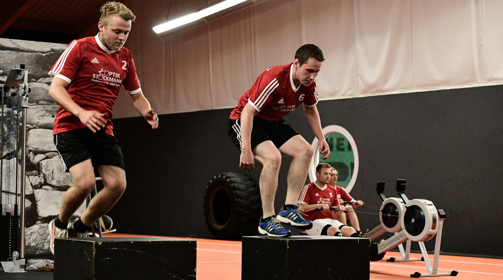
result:
M 260 195 L 262 197 L 263 217 L 273 216 L 274 197 L 278 189 L 278 175 L 281 167 L 281 153 L 271 141 L 265 141 L 255 147 L 253 151 L 255 159 L 262 163 L 260 174 Z

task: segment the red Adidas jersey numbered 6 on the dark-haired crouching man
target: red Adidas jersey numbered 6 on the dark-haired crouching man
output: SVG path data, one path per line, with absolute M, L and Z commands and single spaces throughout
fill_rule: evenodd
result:
M 300 103 L 312 107 L 318 103 L 316 80 L 309 86 L 293 84 L 293 63 L 273 66 L 257 78 L 253 86 L 244 93 L 230 113 L 231 119 L 241 117 L 246 103 L 257 111 L 257 116 L 269 121 L 278 121 L 291 113 Z

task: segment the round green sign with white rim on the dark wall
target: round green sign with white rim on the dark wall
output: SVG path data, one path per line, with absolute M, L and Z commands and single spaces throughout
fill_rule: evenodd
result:
M 309 179 L 316 181 L 316 166 L 324 162 L 337 169 L 339 178 L 337 185 L 350 192 L 358 175 L 358 150 L 356 143 L 348 130 L 339 125 L 329 125 L 323 128 L 326 143 L 330 147 L 330 155 L 322 160 L 318 147 L 318 139 L 314 138 L 312 147 L 316 151 L 309 166 Z

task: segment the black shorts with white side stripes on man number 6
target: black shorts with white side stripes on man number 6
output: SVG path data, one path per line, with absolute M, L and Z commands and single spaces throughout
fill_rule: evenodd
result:
M 229 129 L 227 130 L 232 143 L 241 150 L 241 119 L 229 119 Z M 285 124 L 285 119 L 269 121 L 261 117 L 254 116 L 253 128 L 251 129 L 251 150 L 255 149 L 264 141 L 272 141 L 276 148 L 280 148 L 288 139 L 298 135 L 293 128 Z

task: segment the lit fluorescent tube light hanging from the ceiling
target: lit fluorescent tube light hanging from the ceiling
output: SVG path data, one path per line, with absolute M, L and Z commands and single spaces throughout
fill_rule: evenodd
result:
M 154 26 L 152 29 L 155 33 L 159 34 L 164 31 L 168 31 L 168 30 L 177 28 L 179 26 L 186 25 L 188 23 L 200 20 L 204 17 L 208 17 L 209 15 L 213 15 L 215 13 L 222 11 L 222 10 L 225 10 L 225 9 L 230 8 L 232 6 L 235 6 L 237 4 L 243 3 L 245 1 L 247 1 L 247 0 L 225 0 L 224 2 L 213 5 L 209 8 L 201 10 L 197 13 L 183 16 L 181 18 L 160 24 L 158 26 Z

